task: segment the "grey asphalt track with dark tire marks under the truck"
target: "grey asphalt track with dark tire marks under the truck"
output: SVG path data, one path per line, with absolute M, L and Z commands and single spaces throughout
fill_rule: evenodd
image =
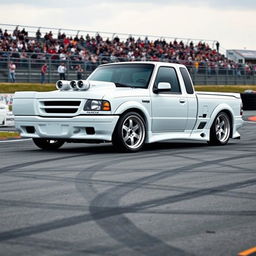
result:
M 256 246 L 256 123 L 226 146 L 0 143 L 0 255 L 233 256 Z

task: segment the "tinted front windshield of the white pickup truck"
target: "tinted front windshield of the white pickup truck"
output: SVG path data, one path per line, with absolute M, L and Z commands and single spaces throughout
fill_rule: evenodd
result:
M 99 67 L 91 81 L 113 82 L 117 87 L 148 88 L 153 64 L 120 64 Z

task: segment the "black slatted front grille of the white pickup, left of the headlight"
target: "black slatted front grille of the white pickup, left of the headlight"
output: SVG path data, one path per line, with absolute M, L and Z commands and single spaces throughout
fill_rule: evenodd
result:
M 39 101 L 42 115 L 73 115 L 78 112 L 81 105 L 80 100 L 42 100 Z

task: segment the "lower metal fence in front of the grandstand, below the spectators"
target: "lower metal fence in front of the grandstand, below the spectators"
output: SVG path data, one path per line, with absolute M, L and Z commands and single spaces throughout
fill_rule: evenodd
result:
M 81 65 L 83 69 L 83 79 L 100 64 L 129 61 L 126 58 L 112 58 L 110 56 L 98 56 L 95 62 L 89 60 L 74 60 L 72 56 L 65 61 L 59 59 L 59 55 L 42 55 L 42 59 L 33 58 L 33 54 L 28 55 L 27 58 L 14 58 L 11 54 L 1 55 L 0 57 L 0 82 L 8 82 L 9 79 L 9 63 L 12 61 L 16 65 L 16 82 L 31 82 L 39 83 L 41 75 L 41 67 L 47 64 L 48 69 L 45 76 L 46 83 L 55 83 L 59 79 L 57 68 L 61 63 L 65 63 L 67 67 L 66 79 L 73 80 L 77 78 L 76 67 Z M 141 61 L 142 59 L 136 59 Z M 169 59 L 159 59 L 159 61 L 170 62 Z M 180 62 L 182 63 L 182 61 Z M 256 85 L 256 66 L 251 66 L 248 69 L 245 65 L 238 67 L 212 67 L 206 62 L 200 62 L 199 65 L 195 63 L 183 63 L 187 66 L 191 77 L 196 85 L 232 85 L 245 84 Z

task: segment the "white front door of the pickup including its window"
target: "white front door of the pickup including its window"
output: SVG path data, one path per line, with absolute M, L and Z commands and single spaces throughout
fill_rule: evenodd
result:
M 160 82 L 170 83 L 169 90 L 158 90 Z M 181 93 L 175 68 L 159 67 L 152 93 L 152 132 L 182 132 L 188 116 L 187 99 Z

